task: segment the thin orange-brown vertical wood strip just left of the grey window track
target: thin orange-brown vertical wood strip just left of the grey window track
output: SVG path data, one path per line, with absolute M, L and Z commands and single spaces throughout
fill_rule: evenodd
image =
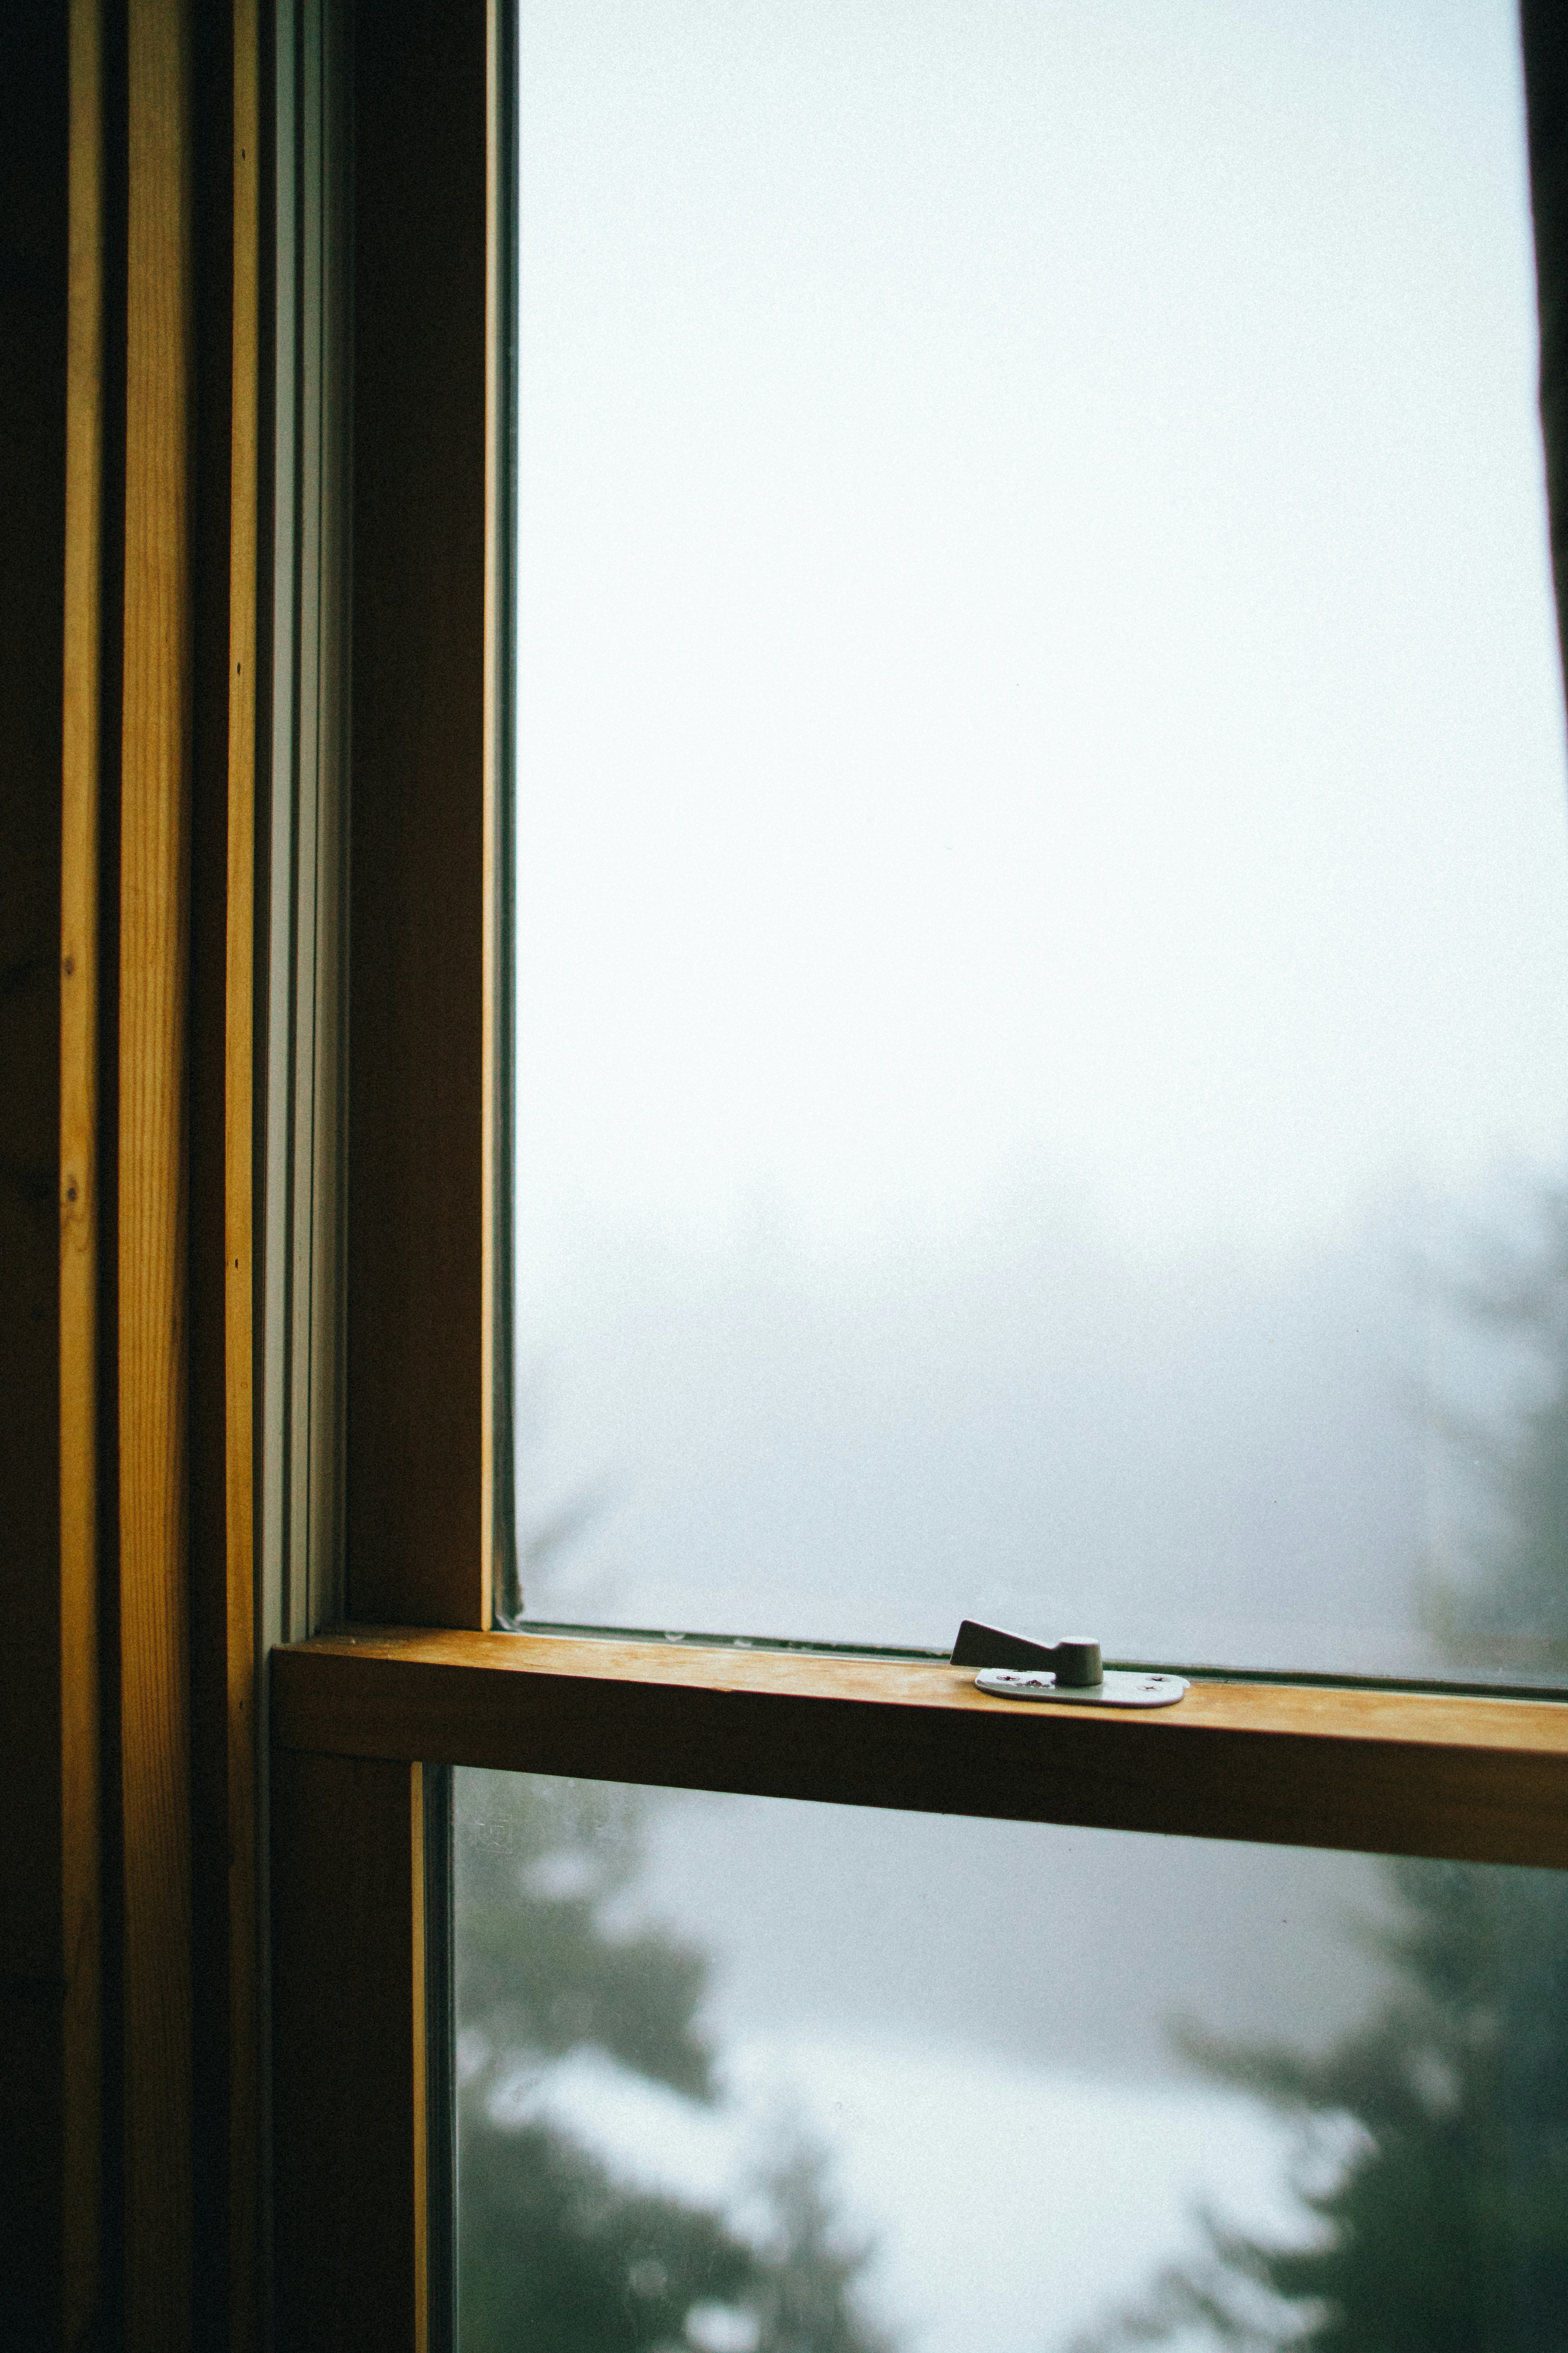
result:
M 259 2320 L 261 2017 L 256 1981 L 256 565 L 261 466 L 261 24 L 235 0 L 233 402 L 228 562 L 228 941 L 223 1066 L 223 1409 L 228 1675 L 228 2294 L 230 2348 Z

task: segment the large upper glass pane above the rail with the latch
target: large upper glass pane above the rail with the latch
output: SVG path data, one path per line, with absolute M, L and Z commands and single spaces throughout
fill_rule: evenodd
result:
M 520 75 L 527 1612 L 1556 1673 L 1509 0 Z

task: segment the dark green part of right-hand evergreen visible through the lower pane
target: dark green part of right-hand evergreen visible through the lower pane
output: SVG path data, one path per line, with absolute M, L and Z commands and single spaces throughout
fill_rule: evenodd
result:
M 1321 2057 L 1185 2035 L 1295 2118 L 1314 2242 L 1204 2221 L 1079 2353 L 1171 2337 L 1312 2353 L 1561 2353 L 1568 2344 L 1568 1878 L 1389 1864 L 1394 1991 Z

